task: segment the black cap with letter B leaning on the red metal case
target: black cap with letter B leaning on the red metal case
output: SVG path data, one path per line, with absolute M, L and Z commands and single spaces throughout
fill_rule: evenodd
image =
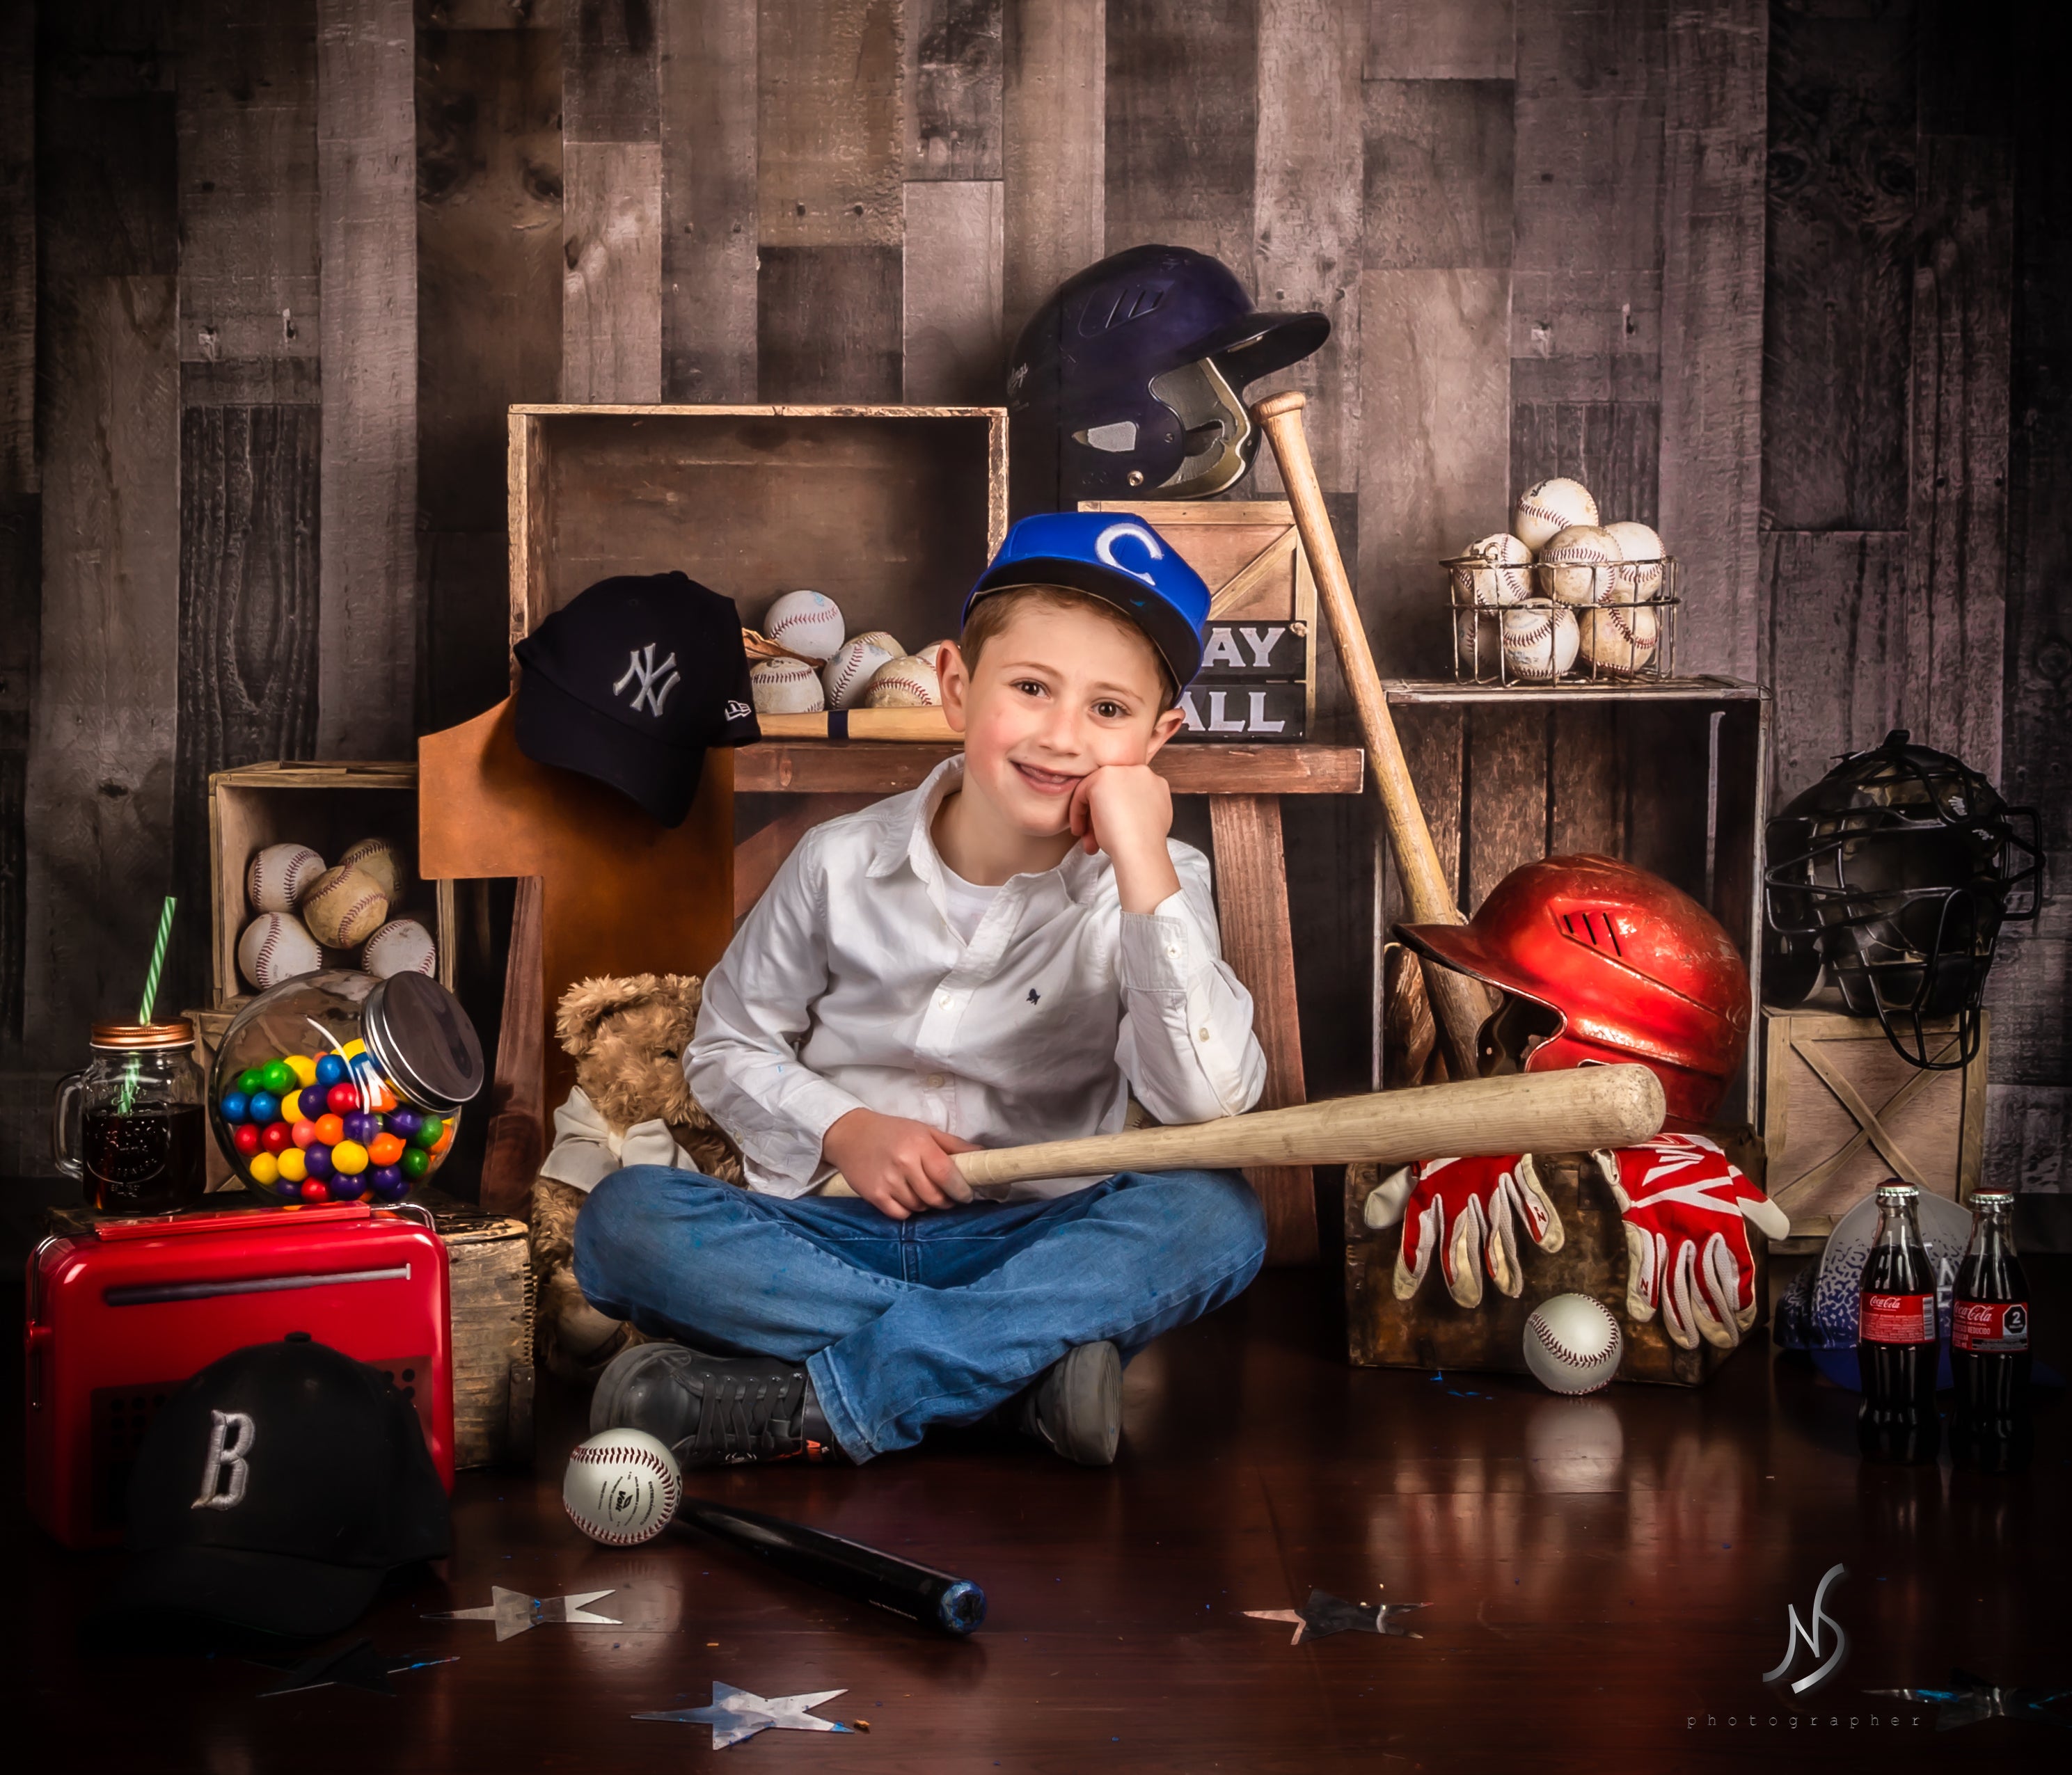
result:
M 160 1406 L 131 1473 L 137 1558 L 95 1626 L 180 1616 L 319 1638 L 448 1541 L 416 1406 L 390 1375 L 292 1332 L 232 1350 Z

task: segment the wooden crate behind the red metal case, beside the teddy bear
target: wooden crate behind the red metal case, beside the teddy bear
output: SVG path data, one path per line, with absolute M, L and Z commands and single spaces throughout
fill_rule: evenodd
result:
M 257 1203 L 263 1197 L 247 1193 Z M 454 1466 L 530 1464 L 533 1460 L 533 1261 L 526 1224 L 483 1214 L 435 1189 L 410 1201 L 431 1214 L 445 1241 L 454 1342 Z M 211 1203 L 222 1212 L 234 1203 Z M 274 1203 L 278 1205 L 278 1203 Z M 44 1212 L 52 1236 L 91 1232 L 89 1207 Z

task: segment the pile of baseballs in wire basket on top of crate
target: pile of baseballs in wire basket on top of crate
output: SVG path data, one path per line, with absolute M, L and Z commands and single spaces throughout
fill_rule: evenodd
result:
M 1600 524 L 1581 481 L 1542 481 L 1519 495 L 1510 528 L 1452 561 L 1461 654 L 1484 677 L 1552 683 L 1577 665 L 1631 677 L 1662 640 L 1664 549 L 1645 524 Z M 1469 615 L 1473 607 L 1473 615 Z

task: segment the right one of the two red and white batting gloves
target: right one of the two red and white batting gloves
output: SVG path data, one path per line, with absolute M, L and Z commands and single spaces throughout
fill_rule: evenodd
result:
M 1769 1239 L 1790 1220 L 1703 1135 L 1656 1135 L 1645 1145 L 1593 1152 L 1627 1222 L 1627 1317 L 1687 1350 L 1697 1340 L 1734 1348 L 1755 1323 L 1749 1222 Z

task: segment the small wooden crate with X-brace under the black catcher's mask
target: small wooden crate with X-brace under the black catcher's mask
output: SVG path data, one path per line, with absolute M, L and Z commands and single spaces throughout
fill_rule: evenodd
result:
M 1763 1147 L 1772 1199 L 1792 1218 L 1792 1239 L 1825 1239 L 1888 1176 L 1970 1201 L 1985 1154 L 1985 1063 L 1952 1073 L 1902 1060 L 1875 1017 L 1834 1009 L 1765 1011 Z M 1956 1046 L 1954 1023 L 1927 1025 L 1933 1050 Z

